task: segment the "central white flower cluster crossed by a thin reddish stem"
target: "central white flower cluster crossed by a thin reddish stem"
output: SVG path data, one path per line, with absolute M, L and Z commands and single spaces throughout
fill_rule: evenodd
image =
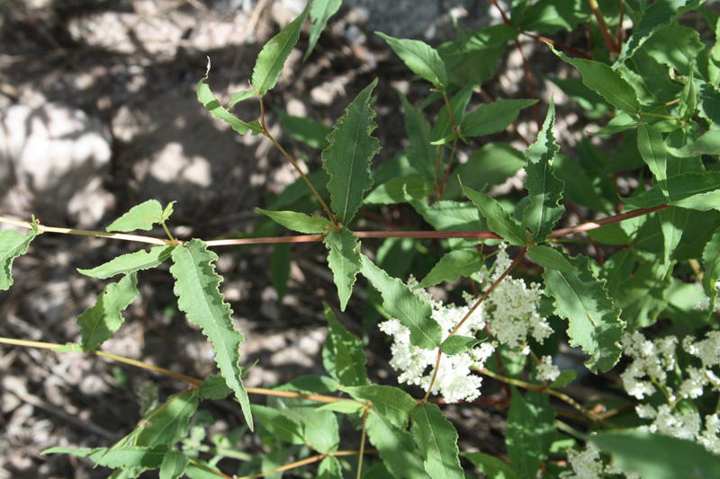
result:
M 500 278 L 500 274 L 511 263 L 505 247 L 506 245 L 500 247 L 494 270 L 488 278 L 487 287 Z M 480 272 L 480 275 L 482 278 L 488 276 L 487 271 L 484 270 Z M 465 294 L 465 306 L 444 305 L 441 301 L 433 299 L 428 291 L 416 289 L 417 285 L 416 279 L 413 277 L 408 279 L 408 287 L 432 307 L 432 317 L 443 330 L 443 340 L 463 320 L 477 301 L 473 296 Z M 431 392 L 442 395 L 447 403 L 456 403 L 461 400 L 473 401 L 480 395 L 482 378 L 474 375 L 472 369 L 484 368 L 485 361 L 491 357 L 498 345 L 506 344 L 511 350 L 528 354 L 528 332 L 542 343 L 553 332 L 547 324 L 547 320 L 537 314 L 537 306 L 542 293 L 539 285 L 532 283 L 527 287 L 522 279 L 512 279 L 508 276 L 501 281 L 486 301 L 457 331 L 457 334 L 474 337 L 476 333 L 486 327 L 487 321 L 495 341 L 482 342 L 462 354 L 443 356 Z M 437 350 L 423 350 L 410 344 L 410 330 L 397 319 L 383 322 L 380 324 L 380 329 L 393 338 L 390 365 L 396 371 L 401 371 L 398 380 L 401 383 L 420 386 L 428 391 L 437 363 Z M 543 369 L 538 367 L 540 374 L 545 377 L 553 377 L 557 368 L 552 365 L 549 358 L 544 359 L 544 365 L 541 366 Z M 560 374 L 559 370 L 557 374 Z

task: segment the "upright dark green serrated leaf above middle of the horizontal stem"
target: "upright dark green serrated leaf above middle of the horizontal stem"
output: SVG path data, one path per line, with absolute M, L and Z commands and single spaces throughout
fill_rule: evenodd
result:
M 330 207 L 345 226 L 355 217 L 365 191 L 373 186 L 370 162 L 380 151 L 380 142 L 370 136 L 377 128 L 370 108 L 376 84 L 377 78 L 350 103 L 329 134 L 330 146 L 322 152 L 322 167 L 330 176 Z

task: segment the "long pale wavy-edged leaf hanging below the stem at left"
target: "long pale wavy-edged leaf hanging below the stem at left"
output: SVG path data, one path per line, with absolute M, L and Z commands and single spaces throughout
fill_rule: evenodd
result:
M 170 272 L 175 278 L 177 306 L 187 314 L 187 319 L 202 327 L 202 333 L 215 349 L 215 362 L 230 389 L 235 392 L 245 420 L 253 429 L 250 401 L 242 385 L 240 343 L 245 336 L 232 323 L 232 309 L 220 293 L 220 275 L 215 272 L 217 254 L 208 251 L 202 240 L 193 239 L 173 250 Z

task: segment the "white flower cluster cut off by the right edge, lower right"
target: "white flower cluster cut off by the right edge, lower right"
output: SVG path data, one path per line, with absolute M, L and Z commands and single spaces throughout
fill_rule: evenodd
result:
M 711 368 L 720 366 L 720 332 L 707 333 L 704 340 L 696 342 L 692 336 L 682 341 L 682 348 L 690 355 L 700 359 L 702 366 L 689 366 L 685 369 L 686 376 L 678 391 L 668 385 L 668 373 L 674 374 L 675 349 L 678 339 L 667 336 L 655 341 L 645 339 L 638 331 L 626 333 L 622 341 L 623 352 L 632 357 L 633 363 L 620 375 L 629 395 L 644 399 L 645 395 L 653 395 L 658 389 L 667 398 L 668 404 L 657 408 L 650 404 L 639 404 L 635 411 L 643 419 L 652 420 L 641 430 L 657 432 L 666 436 L 689 439 L 701 444 L 708 451 L 720 455 L 720 418 L 717 414 L 705 417 L 705 430 L 702 430 L 700 414 L 696 411 L 680 412 L 676 407 L 682 399 L 695 399 L 706 387 L 720 391 L 720 378 Z

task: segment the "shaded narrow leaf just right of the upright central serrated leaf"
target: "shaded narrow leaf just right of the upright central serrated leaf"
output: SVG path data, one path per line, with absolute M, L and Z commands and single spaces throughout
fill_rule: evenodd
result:
M 400 90 L 397 91 L 405 111 L 405 129 L 408 132 L 408 159 L 418 173 L 430 181 L 435 181 L 437 146 L 432 146 L 433 134 L 430 123 L 417 108 L 408 102 Z

